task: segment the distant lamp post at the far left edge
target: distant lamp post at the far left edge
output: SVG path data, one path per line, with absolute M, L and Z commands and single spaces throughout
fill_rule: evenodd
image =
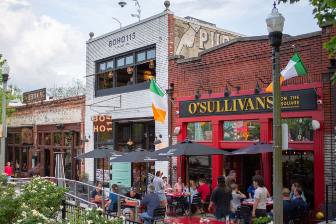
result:
M 6 91 L 7 91 L 7 80 L 9 74 L 9 66 L 7 65 L 7 60 L 4 61 L 4 64 L 1 67 L 2 74 L 2 137 L 1 137 L 1 145 L 0 145 L 0 173 L 4 173 L 4 151 L 5 151 L 5 143 L 6 143 Z

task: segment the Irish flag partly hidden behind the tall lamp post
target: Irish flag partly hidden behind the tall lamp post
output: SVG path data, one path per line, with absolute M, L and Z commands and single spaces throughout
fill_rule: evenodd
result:
M 301 76 L 301 75 L 307 75 L 308 71 L 303 64 L 302 59 L 300 58 L 298 52 L 295 50 L 294 56 L 291 58 L 291 60 L 288 62 L 286 68 L 280 72 L 280 86 L 282 85 L 282 82 L 293 78 L 295 76 Z M 269 84 L 269 86 L 266 88 L 266 93 L 273 93 L 273 82 Z

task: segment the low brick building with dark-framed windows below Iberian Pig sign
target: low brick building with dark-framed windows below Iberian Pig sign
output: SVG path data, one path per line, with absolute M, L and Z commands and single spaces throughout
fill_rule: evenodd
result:
M 54 176 L 54 152 L 63 151 L 65 178 L 78 180 L 84 173 L 84 160 L 75 157 L 84 151 L 85 96 L 13 108 L 6 140 L 6 161 L 13 172 L 18 177 L 27 177 L 30 170 Z

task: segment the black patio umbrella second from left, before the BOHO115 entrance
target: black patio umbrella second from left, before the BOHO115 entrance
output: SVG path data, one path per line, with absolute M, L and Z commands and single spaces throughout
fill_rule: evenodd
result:
M 149 156 L 150 153 L 151 152 L 139 147 L 135 149 L 134 151 L 131 151 L 130 153 L 124 153 L 122 156 L 119 156 L 118 158 L 114 158 L 106 162 L 140 163 L 139 168 L 140 168 L 140 173 L 141 173 L 141 163 L 143 162 L 148 163 L 148 162 L 159 162 L 159 161 L 170 161 L 171 160 L 171 158 L 168 158 L 168 157 L 153 158 Z M 141 175 L 140 175 L 140 191 L 141 191 Z

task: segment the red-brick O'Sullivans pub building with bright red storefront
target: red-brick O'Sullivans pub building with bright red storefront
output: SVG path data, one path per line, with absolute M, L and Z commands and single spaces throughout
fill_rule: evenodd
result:
M 332 24 L 321 28 L 299 36 L 284 34 L 280 46 L 280 67 L 283 69 L 294 55 L 295 45 L 320 96 L 307 75 L 286 80 L 281 87 L 282 118 L 288 123 L 289 147 L 293 148 L 283 152 L 283 187 L 300 183 L 312 208 L 324 202 L 325 184 L 336 179 L 334 94 L 329 81 L 335 63 L 322 48 L 324 42 L 336 35 L 336 28 Z M 254 90 L 258 79 L 272 81 L 271 52 L 267 36 L 254 36 L 230 40 L 200 52 L 197 57 L 170 56 L 168 85 L 174 87 L 173 98 L 179 111 L 175 115 L 173 108 L 171 122 L 173 129 L 181 128 L 177 141 L 188 137 L 226 151 L 256 140 L 272 143 L 272 94 L 265 93 L 267 84 L 260 80 L 262 91 L 257 94 Z M 227 84 L 231 92 L 227 97 L 226 83 L 233 86 Z M 195 100 L 199 86 L 206 91 L 200 89 L 204 95 Z M 317 104 L 317 100 L 323 104 Z M 320 129 L 314 130 L 312 120 L 320 123 Z M 191 178 L 205 177 L 213 189 L 219 175 L 236 170 L 236 183 L 246 193 L 254 171 L 259 169 L 266 188 L 272 191 L 271 153 L 203 156 L 195 157 L 191 163 Z

